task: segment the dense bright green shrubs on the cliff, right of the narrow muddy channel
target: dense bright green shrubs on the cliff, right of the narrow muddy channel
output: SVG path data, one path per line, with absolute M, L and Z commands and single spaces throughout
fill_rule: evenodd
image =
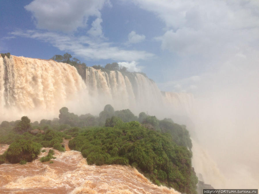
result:
M 130 164 L 153 183 L 195 193 L 197 178 L 187 147 L 172 142 L 170 134 L 149 130 L 137 121 L 86 130 L 70 140 L 69 147 L 81 151 L 90 165 Z

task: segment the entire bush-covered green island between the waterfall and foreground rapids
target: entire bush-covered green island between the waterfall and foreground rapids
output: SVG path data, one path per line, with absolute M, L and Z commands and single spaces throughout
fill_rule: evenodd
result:
M 115 111 L 111 105 L 106 105 L 99 116 L 78 116 L 62 107 L 59 118 L 53 120 L 31 123 L 23 116 L 21 120 L 3 121 L 0 143 L 10 146 L 0 155 L 0 164 L 7 160 L 31 162 L 42 147 L 64 151 L 63 138 L 71 139 L 70 149 L 80 151 L 89 165 L 131 165 L 157 185 L 196 193 L 198 179 L 191 166 L 192 143 L 186 126 L 144 112 L 137 117 L 129 109 Z M 40 160 L 49 161 L 53 155 L 49 150 Z

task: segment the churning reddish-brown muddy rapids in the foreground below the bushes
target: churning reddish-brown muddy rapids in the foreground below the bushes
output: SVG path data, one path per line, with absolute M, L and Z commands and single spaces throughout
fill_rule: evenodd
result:
M 0 145 L 0 154 L 7 148 L 8 145 Z M 152 184 L 130 166 L 87 165 L 78 151 L 54 150 L 54 163 L 40 162 L 39 158 L 47 155 L 50 148 L 42 149 L 46 152 L 33 162 L 0 165 L 0 193 L 178 194 L 174 189 Z

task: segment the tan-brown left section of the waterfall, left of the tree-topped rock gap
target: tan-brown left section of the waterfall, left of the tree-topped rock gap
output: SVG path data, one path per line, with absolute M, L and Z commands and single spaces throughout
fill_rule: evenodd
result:
M 82 90 L 83 80 L 67 64 L 16 56 L 0 58 L 0 120 L 10 113 L 54 116 Z

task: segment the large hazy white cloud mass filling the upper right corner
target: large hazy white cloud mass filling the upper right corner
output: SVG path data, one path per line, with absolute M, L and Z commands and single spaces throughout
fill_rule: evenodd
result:
M 259 50 L 259 1 L 134 0 L 165 23 L 161 48 L 203 63 L 224 61 L 247 47 Z

